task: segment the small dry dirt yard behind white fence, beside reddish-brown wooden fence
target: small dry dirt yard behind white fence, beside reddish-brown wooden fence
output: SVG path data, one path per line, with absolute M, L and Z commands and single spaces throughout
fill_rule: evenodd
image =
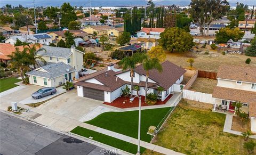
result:
M 194 84 L 189 89 L 191 91 L 212 94 L 214 86 L 217 86 L 217 80 L 196 78 Z

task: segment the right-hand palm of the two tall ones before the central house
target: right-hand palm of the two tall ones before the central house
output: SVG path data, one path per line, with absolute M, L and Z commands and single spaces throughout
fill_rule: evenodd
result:
M 162 72 L 163 71 L 163 68 L 162 68 L 162 64 L 159 62 L 159 60 L 157 58 L 153 58 L 153 59 L 149 59 L 149 58 L 146 58 L 144 61 L 143 61 L 143 68 L 144 70 L 146 71 L 146 93 L 145 93 L 145 102 L 146 102 L 146 98 L 147 98 L 147 93 L 148 93 L 148 77 L 149 77 L 149 71 L 152 70 L 152 69 L 156 69 L 158 70 L 159 72 Z

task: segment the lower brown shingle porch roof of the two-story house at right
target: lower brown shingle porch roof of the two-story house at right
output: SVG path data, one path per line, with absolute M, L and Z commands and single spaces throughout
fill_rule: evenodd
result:
M 212 97 L 223 100 L 240 101 L 251 103 L 256 101 L 256 92 L 243 91 L 225 87 L 214 87 Z M 249 105 L 250 106 L 250 105 Z

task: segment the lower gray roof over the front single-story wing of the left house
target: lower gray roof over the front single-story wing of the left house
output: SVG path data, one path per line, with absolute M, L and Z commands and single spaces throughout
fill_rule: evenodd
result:
M 38 71 L 39 69 L 43 69 L 46 72 Z M 36 70 L 29 71 L 26 74 L 52 79 L 52 78 L 59 77 L 61 75 L 68 74 L 69 72 L 73 72 L 73 71 L 75 71 L 75 69 L 71 67 L 69 64 L 59 62 L 59 63 L 53 63 L 47 66 L 40 67 Z

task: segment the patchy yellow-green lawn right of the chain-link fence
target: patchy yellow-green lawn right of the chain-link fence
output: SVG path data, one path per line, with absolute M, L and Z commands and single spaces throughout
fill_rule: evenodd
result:
M 179 103 L 154 144 L 185 154 L 247 154 L 242 136 L 223 132 L 225 114 L 196 108 L 194 102 Z

